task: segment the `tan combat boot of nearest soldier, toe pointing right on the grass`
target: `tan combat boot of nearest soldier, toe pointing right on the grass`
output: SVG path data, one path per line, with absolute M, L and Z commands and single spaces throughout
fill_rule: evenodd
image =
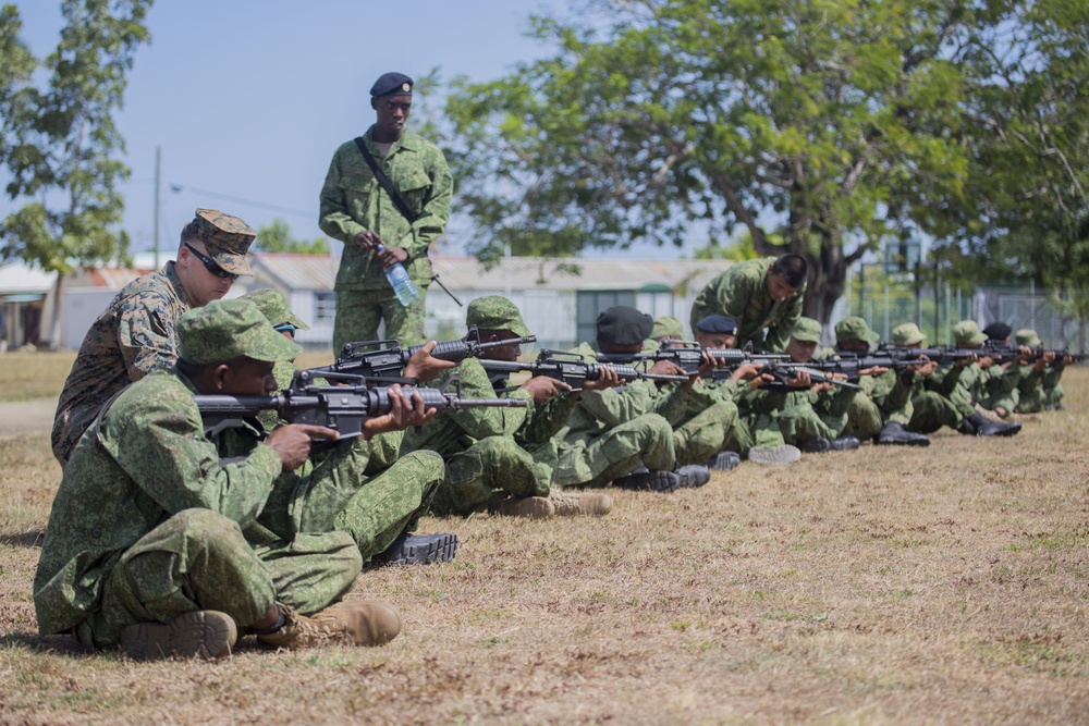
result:
M 273 648 L 295 650 L 332 643 L 384 645 L 401 632 L 401 614 L 377 600 L 340 603 L 309 617 L 286 605 L 279 607 L 284 624 L 276 632 L 257 636 Z

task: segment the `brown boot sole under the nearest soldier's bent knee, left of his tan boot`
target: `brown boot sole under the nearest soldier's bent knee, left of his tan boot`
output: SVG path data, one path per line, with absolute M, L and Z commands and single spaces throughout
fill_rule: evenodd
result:
M 234 619 L 212 610 L 195 611 L 170 623 L 137 623 L 121 631 L 121 650 L 134 661 L 170 656 L 213 660 L 231 654 L 238 639 Z

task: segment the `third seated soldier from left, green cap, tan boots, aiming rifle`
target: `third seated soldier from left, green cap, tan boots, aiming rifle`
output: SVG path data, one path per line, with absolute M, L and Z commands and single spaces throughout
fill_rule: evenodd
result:
M 517 307 L 498 295 L 469 303 L 465 323 L 476 327 L 484 342 L 531 335 Z M 517 360 L 521 348 L 513 344 L 491 348 L 486 355 Z M 452 374 L 440 377 L 433 385 L 445 386 Z M 462 395 L 470 398 L 494 398 L 497 386 L 503 390 L 507 383 L 505 376 L 491 378 L 475 358 L 464 360 L 456 374 Z M 566 421 L 577 401 L 570 389 L 562 381 L 534 377 L 501 394 L 526 401 L 526 408 L 444 413 L 423 428 L 407 432 L 402 454 L 427 448 L 438 452 L 446 464 L 445 478 L 431 502 L 431 512 L 439 516 L 469 515 L 489 507 L 494 514 L 514 516 L 556 514 L 555 505 L 548 499 L 555 467 L 555 444 L 551 436 Z M 577 507 L 560 512 L 579 513 Z

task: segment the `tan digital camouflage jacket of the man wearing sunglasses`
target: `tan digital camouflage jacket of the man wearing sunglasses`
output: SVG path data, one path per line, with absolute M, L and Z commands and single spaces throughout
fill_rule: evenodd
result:
M 125 285 L 91 324 L 57 403 L 53 455 L 68 460 L 99 407 L 118 391 L 178 360 L 178 319 L 191 307 L 174 263 Z

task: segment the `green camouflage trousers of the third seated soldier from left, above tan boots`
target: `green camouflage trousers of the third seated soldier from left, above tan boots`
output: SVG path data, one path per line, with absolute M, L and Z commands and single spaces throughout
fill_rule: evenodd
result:
M 446 476 L 431 501 L 440 517 L 469 515 L 509 496 L 548 496 L 552 469 L 511 436 L 488 436 L 446 460 Z

